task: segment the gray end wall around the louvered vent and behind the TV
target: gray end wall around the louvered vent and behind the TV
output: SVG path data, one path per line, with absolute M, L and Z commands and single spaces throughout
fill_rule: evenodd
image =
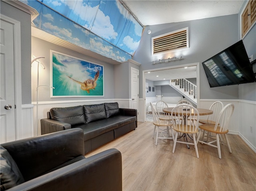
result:
M 178 66 L 190 63 L 200 63 L 200 98 L 202 99 L 238 99 L 238 85 L 210 88 L 202 62 L 212 57 L 216 53 L 236 43 L 238 39 L 238 19 L 240 15 L 234 14 L 229 16 L 221 16 L 215 18 L 207 18 L 201 20 L 192 20 L 188 22 L 178 22 L 170 24 L 160 24 L 147 26 L 142 35 L 140 45 L 134 54 L 133 59 L 142 65 L 140 66 L 140 84 L 142 84 L 142 71 L 156 69 L 162 67 Z M 189 49 L 165 53 L 162 55 L 151 55 L 151 38 L 188 27 L 189 30 Z M 151 30 L 151 34 L 145 31 Z M 255 32 L 254 39 L 255 39 Z M 248 43 L 254 43 L 248 42 Z M 246 45 L 250 47 L 250 45 Z M 254 50 L 247 50 L 248 52 Z M 184 60 L 173 61 L 170 63 L 160 63 L 152 65 L 152 61 L 158 59 L 167 59 L 182 55 Z M 251 83 L 254 84 L 254 83 Z M 249 85 L 252 86 L 252 85 Z M 239 85 L 240 87 L 240 85 Z M 140 97 L 142 97 L 142 89 L 140 89 Z M 255 98 L 247 98 L 249 100 Z

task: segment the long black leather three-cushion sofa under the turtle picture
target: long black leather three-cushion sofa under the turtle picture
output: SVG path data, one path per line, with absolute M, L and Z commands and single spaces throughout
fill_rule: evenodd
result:
M 119 108 L 117 102 L 51 108 L 40 122 L 41 134 L 81 128 L 86 154 L 137 128 L 137 110 Z

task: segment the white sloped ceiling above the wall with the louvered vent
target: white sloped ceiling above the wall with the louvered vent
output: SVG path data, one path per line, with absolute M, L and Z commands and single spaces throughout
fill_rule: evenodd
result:
M 144 25 L 238 14 L 243 0 L 122 0 Z

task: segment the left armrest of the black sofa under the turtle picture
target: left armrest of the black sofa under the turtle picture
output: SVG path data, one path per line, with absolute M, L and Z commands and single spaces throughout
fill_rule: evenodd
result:
M 52 119 L 41 119 L 41 134 L 47 134 L 47 133 L 52 133 L 52 132 L 57 132 L 57 131 L 62 131 L 66 129 L 71 129 L 71 124 L 64 123 L 64 122 L 59 122 L 55 121 Z

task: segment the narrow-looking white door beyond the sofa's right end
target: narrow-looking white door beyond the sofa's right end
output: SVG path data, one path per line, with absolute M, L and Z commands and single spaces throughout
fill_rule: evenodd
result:
M 139 70 L 131 67 L 131 94 L 132 94 L 132 109 L 138 110 L 139 103 Z

